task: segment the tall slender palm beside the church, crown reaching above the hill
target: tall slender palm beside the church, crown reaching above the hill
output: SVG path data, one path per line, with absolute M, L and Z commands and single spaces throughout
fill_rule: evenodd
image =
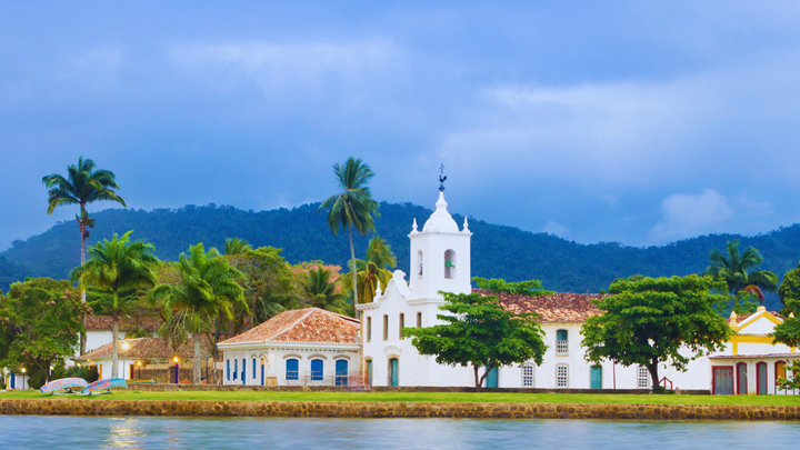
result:
M 317 213 L 329 210 L 328 224 L 333 236 L 337 236 L 340 229 L 348 230 L 350 236 L 350 268 L 352 270 L 356 268 L 352 229 L 354 228 L 361 236 L 374 231 L 372 214 L 380 217 L 378 212 L 380 206 L 372 200 L 372 194 L 367 186 L 369 180 L 374 177 L 374 172 L 360 159 L 350 157 L 343 164 L 339 162 L 333 164 L 333 174 L 341 191 L 323 201 L 317 209 Z M 353 304 L 358 304 L 356 281 L 356 277 L 353 277 Z

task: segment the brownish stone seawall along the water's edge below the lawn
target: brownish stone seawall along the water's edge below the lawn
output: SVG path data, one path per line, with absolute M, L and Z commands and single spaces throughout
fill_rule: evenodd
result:
M 0 414 L 297 418 L 800 420 L 800 407 L 2 399 Z

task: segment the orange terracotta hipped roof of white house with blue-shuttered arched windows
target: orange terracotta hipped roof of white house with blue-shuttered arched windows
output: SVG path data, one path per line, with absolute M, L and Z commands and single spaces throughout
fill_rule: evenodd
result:
M 284 311 L 239 336 L 220 342 L 359 343 L 358 319 L 319 308 Z

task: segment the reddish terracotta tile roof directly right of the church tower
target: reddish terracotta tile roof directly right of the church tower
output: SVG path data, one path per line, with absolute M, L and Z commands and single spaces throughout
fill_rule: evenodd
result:
M 569 293 L 557 292 L 551 296 L 528 297 L 518 293 L 494 293 L 488 290 L 473 289 L 472 292 L 482 296 L 497 296 L 500 304 L 507 310 L 520 312 L 536 312 L 542 323 L 582 323 L 600 311 L 591 301 L 610 297 L 607 293 Z

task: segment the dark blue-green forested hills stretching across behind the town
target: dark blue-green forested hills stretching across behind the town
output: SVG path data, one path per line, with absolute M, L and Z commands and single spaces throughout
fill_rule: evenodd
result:
M 192 243 L 207 248 L 224 247 L 224 239 L 238 237 L 254 247 L 283 249 L 290 262 L 322 260 L 344 266 L 350 254 L 346 234 L 334 238 L 324 214 L 317 214 L 316 204 L 271 211 L 242 211 L 231 207 L 187 206 L 177 210 L 153 211 L 109 209 L 92 217 L 89 244 L 112 233 L 134 230 L 134 239 L 156 244 L 162 259 L 174 260 Z M 431 210 L 406 204 L 381 203 L 378 234 L 389 241 L 398 257 L 398 268 L 409 271 L 411 222 L 420 228 Z M 461 224 L 463 217 L 453 214 Z M 546 233 L 531 233 L 517 228 L 470 220 L 472 236 L 472 274 L 507 280 L 539 279 L 556 291 L 597 292 L 608 289 L 617 278 L 631 274 L 671 276 L 704 270 L 708 253 L 722 249 L 726 241 L 738 238 L 712 234 L 678 241 L 664 247 L 636 248 L 618 243 L 580 244 Z M 58 223 L 49 231 L 14 241 L 0 253 L 0 289 L 27 276 L 64 278 L 79 261 L 78 226 L 73 221 Z M 368 237 L 358 237 L 357 256 L 362 256 Z M 768 234 L 742 238 L 742 246 L 761 250 L 763 268 L 782 276 L 798 266 L 800 259 L 800 224 Z

